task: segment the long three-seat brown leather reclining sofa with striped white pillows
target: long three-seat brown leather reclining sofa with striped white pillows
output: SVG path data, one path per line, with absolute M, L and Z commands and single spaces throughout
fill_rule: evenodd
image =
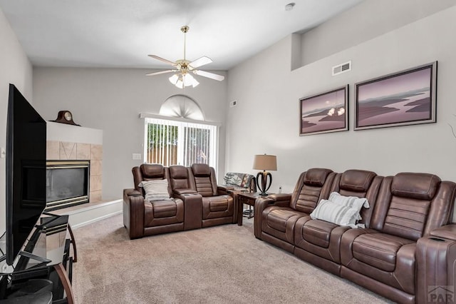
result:
M 309 216 L 334 191 L 367 198 L 366 228 Z M 312 168 L 291 195 L 256 201 L 254 234 L 398 303 L 447 302 L 456 291 L 455 198 L 456 183 L 432 174 Z

